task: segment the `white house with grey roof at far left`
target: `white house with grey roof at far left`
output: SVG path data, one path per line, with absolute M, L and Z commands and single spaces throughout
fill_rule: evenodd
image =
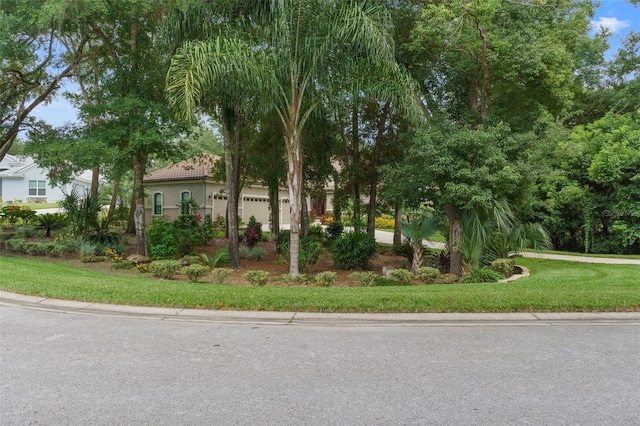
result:
M 66 185 L 52 185 L 47 170 L 31 157 L 5 155 L 0 161 L 0 200 L 26 203 L 56 203 L 73 189 L 84 194 L 91 188 L 91 172 L 85 171 Z

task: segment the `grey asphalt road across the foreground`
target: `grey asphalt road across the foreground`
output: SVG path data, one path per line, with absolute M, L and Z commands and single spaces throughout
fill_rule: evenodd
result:
M 2 425 L 640 424 L 637 319 L 276 325 L 3 305 L 0 345 Z

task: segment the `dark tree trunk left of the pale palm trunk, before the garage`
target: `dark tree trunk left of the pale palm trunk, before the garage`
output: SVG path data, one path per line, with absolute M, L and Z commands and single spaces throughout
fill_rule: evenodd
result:
M 231 112 L 227 112 L 227 119 L 222 120 L 222 141 L 224 145 L 224 168 L 227 180 L 227 229 L 229 237 L 229 266 L 240 267 L 239 241 L 238 241 L 238 180 L 236 177 L 235 163 L 231 148 Z

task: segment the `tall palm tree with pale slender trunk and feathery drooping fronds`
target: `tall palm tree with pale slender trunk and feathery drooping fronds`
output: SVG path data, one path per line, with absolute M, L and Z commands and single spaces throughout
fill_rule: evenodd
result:
M 222 81 L 256 89 L 265 109 L 275 109 L 287 153 L 289 272 L 297 275 L 304 184 L 301 135 L 320 102 L 319 93 L 331 87 L 337 76 L 356 76 L 355 64 L 367 58 L 387 70 L 386 79 L 369 82 L 373 91 L 393 98 L 409 111 L 419 109 L 409 80 L 395 62 L 390 17 L 384 6 L 337 0 L 271 0 L 263 12 L 253 42 L 224 33 L 183 45 L 172 60 L 167 91 L 173 107 L 184 116 L 191 116 L 208 91 Z M 353 55 L 354 51 L 358 55 Z

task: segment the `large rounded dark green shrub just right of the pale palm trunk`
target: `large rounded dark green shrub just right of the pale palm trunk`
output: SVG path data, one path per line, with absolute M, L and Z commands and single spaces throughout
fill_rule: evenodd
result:
M 347 232 L 331 245 L 333 261 L 343 269 L 368 269 L 369 260 L 378 251 L 373 237 L 361 232 Z

